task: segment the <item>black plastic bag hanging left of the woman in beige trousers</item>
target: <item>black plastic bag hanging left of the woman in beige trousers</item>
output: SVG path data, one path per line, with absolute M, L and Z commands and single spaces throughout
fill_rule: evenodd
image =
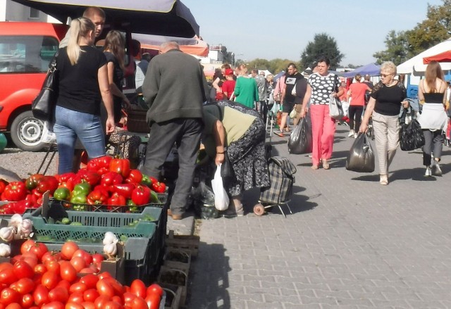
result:
M 366 134 L 359 133 L 346 158 L 346 169 L 354 172 L 374 172 L 374 152 Z

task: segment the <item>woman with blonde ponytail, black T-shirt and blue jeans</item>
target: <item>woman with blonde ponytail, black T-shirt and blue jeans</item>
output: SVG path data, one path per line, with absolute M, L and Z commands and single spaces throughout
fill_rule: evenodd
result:
M 72 170 L 77 137 L 89 158 L 105 156 L 101 101 L 107 112 L 106 133 L 110 134 L 115 127 L 106 58 L 92 46 L 94 36 L 94 23 L 87 18 L 76 18 L 70 23 L 68 46 L 58 50 L 58 97 L 54 124 L 59 154 L 58 174 Z

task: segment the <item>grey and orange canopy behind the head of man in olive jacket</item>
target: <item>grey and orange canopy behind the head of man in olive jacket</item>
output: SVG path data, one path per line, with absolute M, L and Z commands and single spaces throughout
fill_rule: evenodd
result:
M 173 41 L 178 43 L 180 50 L 184 53 L 189 53 L 190 55 L 199 57 L 206 57 L 209 55 L 209 45 L 197 36 L 185 38 L 132 33 L 132 38 L 140 41 L 142 49 L 154 49 L 158 51 L 161 44 L 164 42 Z

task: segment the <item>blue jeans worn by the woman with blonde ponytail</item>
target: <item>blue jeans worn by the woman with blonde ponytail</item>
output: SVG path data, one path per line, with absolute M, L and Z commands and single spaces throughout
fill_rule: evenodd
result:
M 77 137 L 89 158 L 105 156 L 105 137 L 100 117 L 56 106 L 54 132 L 58 145 L 58 174 L 72 171 Z

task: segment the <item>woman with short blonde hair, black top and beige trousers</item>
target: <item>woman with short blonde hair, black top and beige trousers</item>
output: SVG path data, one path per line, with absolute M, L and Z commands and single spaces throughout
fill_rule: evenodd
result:
M 379 163 L 379 182 L 388 184 L 388 168 L 400 144 L 400 122 L 398 115 L 401 106 L 409 107 L 404 101 L 407 96 L 406 88 L 402 82 L 395 80 L 396 65 L 391 61 L 381 65 L 381 82 L 374 86 L 371 98 L 366 106 L 364 119 L 359 132 L 368 130 L 369 118 L 373 117 L 374 137 Z

